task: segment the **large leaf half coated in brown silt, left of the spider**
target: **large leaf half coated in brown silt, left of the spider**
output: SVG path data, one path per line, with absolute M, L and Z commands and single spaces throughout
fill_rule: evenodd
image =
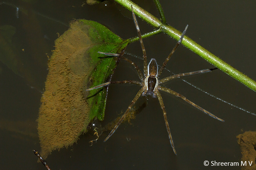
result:
M 98 51 L 119 53 L 127 43 L 88 20 L 71 22 L 55 40 L 38 118 L 43 157 L 76 142 L 95 117 L 104 118 L 106 88 L 85 90 L 106 82 L 116 67 L 116 57 L 102 58 Z

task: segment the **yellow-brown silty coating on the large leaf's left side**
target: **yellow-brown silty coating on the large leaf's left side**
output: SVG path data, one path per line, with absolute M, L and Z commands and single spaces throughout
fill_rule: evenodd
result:
M 90 108 L 84 93 L 92 70 L 88 65 L 87 50 L 91 46 L 88 30 L 88 26 L 75 21 L 55 40 L 37 120 L 44 158 L 52 150 L 76 142 L 89 123 Z

